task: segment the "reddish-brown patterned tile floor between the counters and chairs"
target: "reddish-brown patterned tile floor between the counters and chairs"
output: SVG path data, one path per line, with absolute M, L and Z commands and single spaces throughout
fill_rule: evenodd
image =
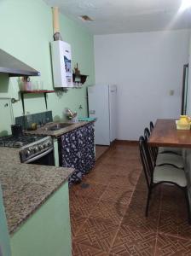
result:
M 147 187 L 136 146 L 115 144 L 81 184 L 70 189 L 72 255 L 191 255 L 191 227 L 182 191 Z

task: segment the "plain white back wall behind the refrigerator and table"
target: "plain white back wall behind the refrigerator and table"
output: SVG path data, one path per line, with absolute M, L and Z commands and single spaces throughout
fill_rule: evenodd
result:
M 178 117 L 188 45 L 188 30 L 95 36 L 96 84 L 118 84 L 119 139 L 138 140 L 150 120 Z

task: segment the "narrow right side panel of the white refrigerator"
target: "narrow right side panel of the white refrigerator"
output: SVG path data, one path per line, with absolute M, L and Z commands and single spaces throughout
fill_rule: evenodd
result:
M 109 125 L 110 125 L 110 142 L 117 138 L 117 86 L 109 85 Z

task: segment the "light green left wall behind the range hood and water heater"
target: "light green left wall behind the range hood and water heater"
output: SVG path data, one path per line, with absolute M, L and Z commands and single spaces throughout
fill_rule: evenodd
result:
M 61 36 L 72 46 L 72 67 L 78 62 L 83 74 L 89 75 L 85 86 L 95 83 L 93 35 L 66 16 L 60 15 Z M 52 10 L 42 0 L 0 1 L 0 48 L 37 69 L 43 89 L 53 90 L 49 42 L 53 40 Z M 86 90 L 69 89 L 67 93 L 48 95 L 48 108 L 62 118 L 64 108 L 87 115 Z M 0 75 L 0 97 L 20 99 L 18 79 Z M 43 95 L 26 96 L 26 113 L 45 111 Z M 79 110 L 79 105 L 83 109 Z M 14 117 L 22 114 L 21 101 L 13 104 Z M 0 110 L 1 111 L 1 110 Z

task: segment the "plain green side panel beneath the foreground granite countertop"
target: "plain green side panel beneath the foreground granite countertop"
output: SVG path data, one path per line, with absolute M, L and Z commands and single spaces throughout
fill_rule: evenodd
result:
M 71 256 L 68 183 L 64 183 L 10 238 L 12 256 Z

